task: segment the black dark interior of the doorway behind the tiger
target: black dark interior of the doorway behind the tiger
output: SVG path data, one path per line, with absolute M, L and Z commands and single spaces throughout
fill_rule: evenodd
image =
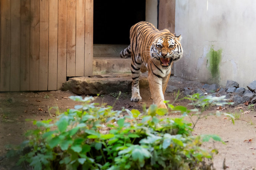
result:
M 94 0 L 93 43 L 129 44 L 130 27 L 145 13 L 146 0 Z

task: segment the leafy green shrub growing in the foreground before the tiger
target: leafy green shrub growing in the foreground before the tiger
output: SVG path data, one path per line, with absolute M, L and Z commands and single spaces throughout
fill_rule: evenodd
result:
M 81 105 L 52 120 L 34 121 L 26 133 L 19 163 L 41 169 L 214 169 L 212 154 L 200 148 L 217 135 L 192 136 L 183 117 L 161 117 L 168 110 L 151 105 L 146 112 L 113 111 L 91 103 L 93 97 L 71 96 Z M 193 97 L 191 96 L 191 99 Z M 193 100 L 194 101 L 194 100 Z M 171 112 L 195 112 L 168 104 Z

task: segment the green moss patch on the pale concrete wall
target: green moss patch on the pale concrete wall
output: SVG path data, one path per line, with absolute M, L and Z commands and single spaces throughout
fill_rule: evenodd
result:
M 209 53 L 207 53 L 207 64 L 209 64 L 209 71 L 211 72 L 212 82 L 218 83 L 220 81 L 219 64 L 221 59 L 222 50 L 215 51 L 211 47 Z

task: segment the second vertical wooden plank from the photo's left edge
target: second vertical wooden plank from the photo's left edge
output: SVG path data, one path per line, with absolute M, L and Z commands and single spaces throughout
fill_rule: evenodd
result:
M 20 86 L 20 1 L 11 0 L 11 62 L 10 91 Z

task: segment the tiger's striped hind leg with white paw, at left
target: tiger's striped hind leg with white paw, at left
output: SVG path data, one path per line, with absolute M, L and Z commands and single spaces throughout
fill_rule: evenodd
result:
M 131 58 L 133 59 L 131 63 L 131 78 L 133 79 L 131 85 L 131 101 L 138 102 L 141 101 L 141 95 L 139 94 L 139 75 L 141 69 L 141 62 L 139 62 L 139 58 L 133 58 L 133 54 L 131 54 Z

